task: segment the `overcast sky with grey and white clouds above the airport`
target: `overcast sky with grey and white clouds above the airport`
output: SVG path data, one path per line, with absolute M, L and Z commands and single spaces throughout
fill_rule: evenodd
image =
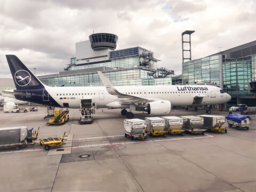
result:
M 196 31 L 192 59 L 205 57 L 255 41 L 255 10 L 255 0 L 1 0 L 0 77 L 11 77 L 5 54 L 37 75 L 58 73 L 93 31 L 118 35 L 117 50 L 151 50 L 158 67 L 181 74 L 183 31 Z

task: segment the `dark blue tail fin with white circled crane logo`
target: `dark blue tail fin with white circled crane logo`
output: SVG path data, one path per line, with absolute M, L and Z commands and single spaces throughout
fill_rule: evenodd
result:
M 41 89 L 44 85 L 15 55 L 5 55 L 17 90 Z

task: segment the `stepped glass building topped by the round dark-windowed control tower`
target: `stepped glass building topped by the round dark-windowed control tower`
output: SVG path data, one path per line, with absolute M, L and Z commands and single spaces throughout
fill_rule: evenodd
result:
M 97 71 L 116 86 L 182 84 L 173 70 L 157 68 L 154 52 L 142 47 L 115 50 L 118 36 L 98 33 L 76 43 L 76 57 L 58 74 L 39 76 L 49 86 L 103 86 Z

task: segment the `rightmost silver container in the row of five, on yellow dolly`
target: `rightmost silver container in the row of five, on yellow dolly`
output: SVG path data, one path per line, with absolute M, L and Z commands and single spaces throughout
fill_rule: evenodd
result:
M 204 118 L 203 128 L 207 131 L 225 132 L 227 133 L 226 127 L 222 127 L 226 123 L 225 116 L 220 115 L 198 115 Z

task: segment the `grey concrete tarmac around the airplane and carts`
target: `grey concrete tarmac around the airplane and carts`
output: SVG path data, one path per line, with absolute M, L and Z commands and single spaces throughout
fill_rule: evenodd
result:
M 97 109 L 93 124 L 47 125 L 46 109 L 5 114 L 0 127 L 40 127 L 38 138 L 61 136 L 65 145 L 0 149 L 1 191 L 256 191 L 256 116 L 249 130 L 147 137 L 124 137 L 120 109 Z M 204 110 L 173 109 L 171 115 L 200 115 Z M 213 114 L 228 115 L 227 111 Z M 146 114 L 134 113 L 144 119 Z

